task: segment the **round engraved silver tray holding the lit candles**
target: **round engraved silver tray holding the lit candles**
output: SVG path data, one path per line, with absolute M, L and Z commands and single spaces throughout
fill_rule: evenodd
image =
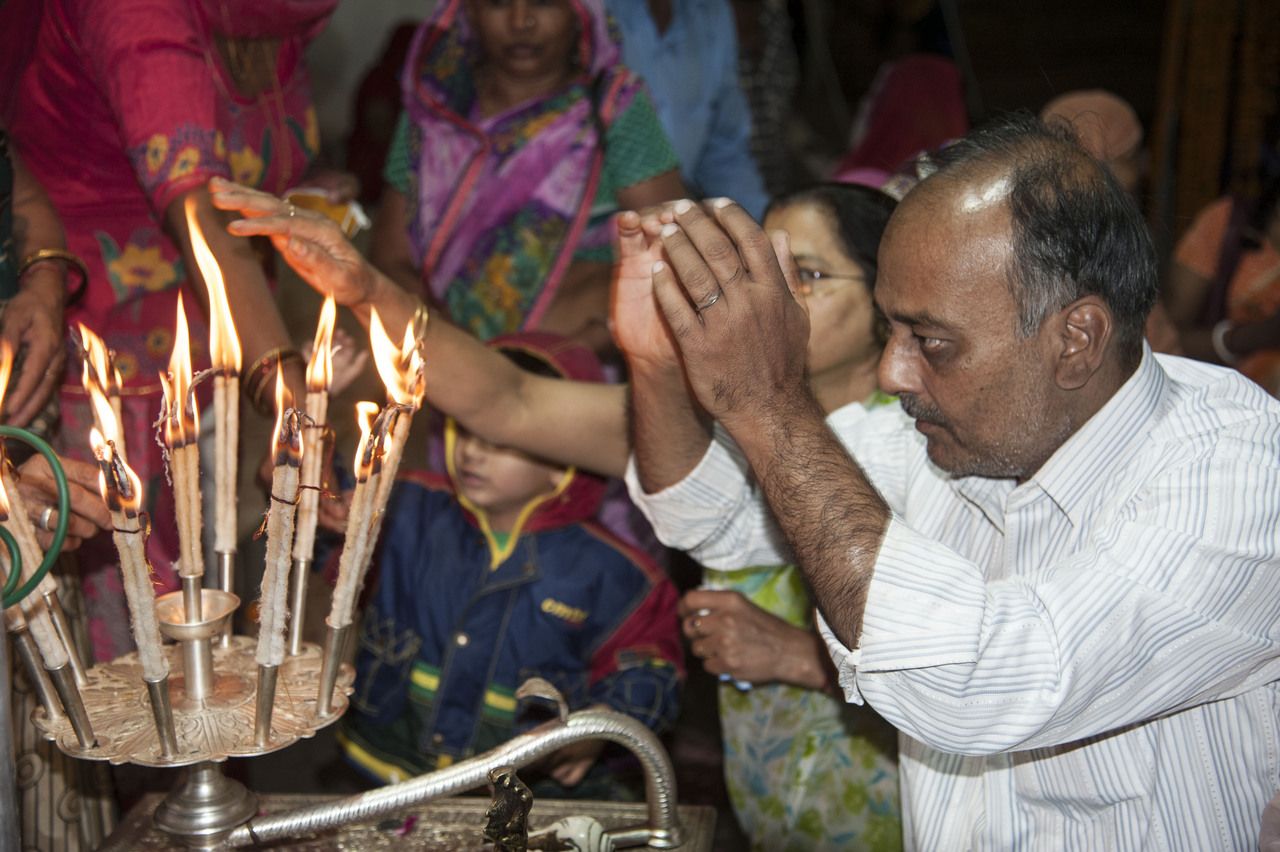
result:
M 266 745 L 253 739 L 253 718 L 257 643 L 246 636 L 232 637 L 225 649 L 215 647 L 212 692 L 205 701 L 189 701 L 183 690 L 178 646 L 166 646 L 175 675 L 169 678 L 177 753 L 166 759 L 152 722 L 147 688 L 136 654 L 127 654 L 111 663 L 88 670 L 88 684 L 82 690 L 84 705 L 93 723 L 97 746 L 81 746 L 67 719 L 50 720 L 44 709 L 32 714 L 32 722 L 45 737 L 73 757 L 109 760 L 113 764 L 143 766 L 188 766 L 227 757 L 265 755 L 311 737 L 320 728 L 335 722 L 347 707 L 353 672 L 343 667 L 334 690 L 334 713 L 316 715 L 316 683 L 320 677 L 320 649 L 303 643 L 302 652 L 285 659 L 276 686 L 275 713 Z

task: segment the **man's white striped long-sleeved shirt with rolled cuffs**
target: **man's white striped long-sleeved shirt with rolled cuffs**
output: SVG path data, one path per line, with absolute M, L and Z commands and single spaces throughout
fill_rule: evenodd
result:
M 850 701 L 901 732 L 908 848 L 1256 849 L 1280 789 L 1280 404 L 1152 356 L 1023 485 L 896 406 L 828 423 L 893 509 Z M 741 457 L 631 494 L 710 568 L 787 559 Z

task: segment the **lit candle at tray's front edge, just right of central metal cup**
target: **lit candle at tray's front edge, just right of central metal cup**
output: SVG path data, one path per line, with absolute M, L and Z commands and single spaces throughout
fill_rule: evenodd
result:
M 289 548 L 298 503 L 298 468 L 303 450 L 301 417 L 291 407 L 284 374 L 275 374 L 275 432 L 271 439 L 275 469 L 266 519 L 266 569 L 259 606 L 257 664 L 279 665 L 284 660 L 285 597 L 289 588 Z

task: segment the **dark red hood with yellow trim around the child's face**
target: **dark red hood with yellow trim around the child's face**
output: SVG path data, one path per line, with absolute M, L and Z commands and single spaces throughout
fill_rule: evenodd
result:
M 575 381 L 604 381 L 604 370 L 595 353 L 586 347 L 545 331 L 520 331 L 504 334 L 486 343 L 493 349 L 525 352 L 539 361 L 550 365 L 563 379 Z M 485 510 L 472 504 L 457 487 L 457 469 L 453 448 L 457 441 L 457 425 L 448 418 L 444 426 L 444 459 L 449 481 L 458 503 L 468 518 L 480 527 L 489 541 L 493 556 L 492 567 L 497 568 L 516 549 L 520 536 L 526 532 L 557 530 L 595 517 L 604 499 L 607 482 L 594 473 L 568 467 L 561 481 L 550 491 L 530 500 L 521 510 L 506 546 L 499 548 Z

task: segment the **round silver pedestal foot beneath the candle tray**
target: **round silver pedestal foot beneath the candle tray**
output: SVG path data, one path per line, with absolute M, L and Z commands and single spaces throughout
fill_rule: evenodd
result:
M 215 849 L 232 829 L 257 812 L 257 797 L 223 775 L 218 764 L 200 762 L 156 807 L 155 824 L 188 848 Z

